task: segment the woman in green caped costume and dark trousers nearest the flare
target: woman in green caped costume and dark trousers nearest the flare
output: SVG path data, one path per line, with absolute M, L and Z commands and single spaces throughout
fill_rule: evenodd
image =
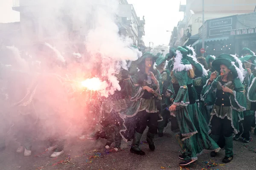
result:
M 147 52 L 137 61 L 139 71 L 133 77 L 133 93 L 131 105 L 120 113 L 124 120 L 124 129 L 120 134 L 125 141 L 133 138 L 131 153 L 145 155 L 140 148 L 140 139 L 148 126 L 147 142 L 150 150 L 154 150 L 154 135 L 157 133 L 158 120 L 161 120 L 159 111 L 163 89 L 162 77 L 154 69 L 156 57 Z

